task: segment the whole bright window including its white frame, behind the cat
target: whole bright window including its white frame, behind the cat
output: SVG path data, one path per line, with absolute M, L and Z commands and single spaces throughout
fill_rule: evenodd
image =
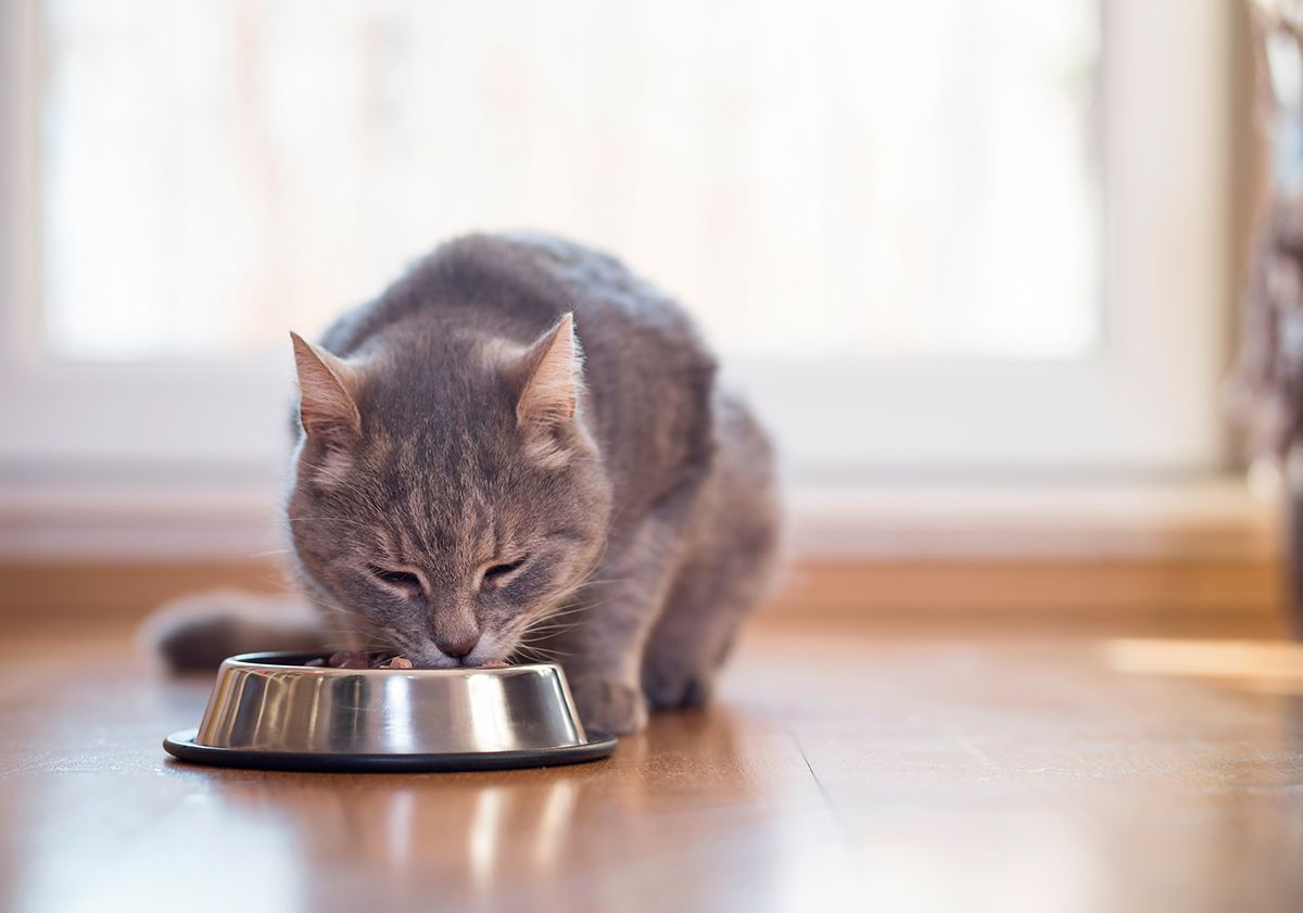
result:
M 796 477 L 1220 455 L 1216 4 L 10 7 L 3 458 L 271 466 L 288 328 L 516 227 L 681 297 Z

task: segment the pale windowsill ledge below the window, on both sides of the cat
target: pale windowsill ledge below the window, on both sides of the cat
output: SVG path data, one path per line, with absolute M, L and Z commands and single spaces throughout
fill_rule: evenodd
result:
M 284 548 L 271 481 L 0 481 L 0 563 L 241 560 Z M 1274 555 L 1276 507 L 1239 475 L 1162 483 L 799 486 L 804 560 Z

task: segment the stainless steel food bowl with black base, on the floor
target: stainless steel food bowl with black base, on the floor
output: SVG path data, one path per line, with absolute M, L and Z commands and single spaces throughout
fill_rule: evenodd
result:
M 606 757 L 559 666 L 337 669 L 313 654 L 244 654 L 218 671 L 199 728 L 164 748 L 182 761 L 288 770 L 474 770 Z

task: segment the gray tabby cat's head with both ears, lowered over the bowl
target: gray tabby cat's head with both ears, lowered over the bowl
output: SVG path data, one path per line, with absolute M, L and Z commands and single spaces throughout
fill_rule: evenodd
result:
M 347 361 L 293 336 L 300 569 L 336 628 L 418 666 L 506 659 L 610 522 L 573 319 L 528 346 L 395 330 Z

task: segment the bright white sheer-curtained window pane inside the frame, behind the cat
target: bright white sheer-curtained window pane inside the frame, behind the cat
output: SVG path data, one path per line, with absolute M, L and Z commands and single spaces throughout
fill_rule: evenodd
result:
M 1100 331 L 1095 0 L 44 4 L 44 339 L 281 346 L 434 241 L 610 247 L 751 354 Z

